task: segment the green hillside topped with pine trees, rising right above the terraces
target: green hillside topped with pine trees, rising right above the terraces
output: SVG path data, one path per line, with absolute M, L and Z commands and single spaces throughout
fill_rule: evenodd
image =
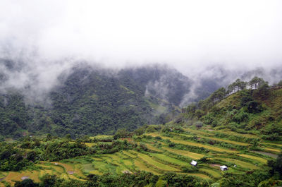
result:
M 258 131 L 265 140 L 282 140 L 281 85 L 282 81 L 269 86 L 257 77 L 248 83 L 238 79 L 228 90 L 220 88 L 207 99 L 190 104 L 185 114 L 197 121 L 197 128 L 203 123 L 224 126 L 238 133 Z

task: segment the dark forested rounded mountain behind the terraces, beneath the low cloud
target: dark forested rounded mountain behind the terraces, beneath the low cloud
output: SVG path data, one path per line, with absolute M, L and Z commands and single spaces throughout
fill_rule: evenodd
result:
M 15 64 L 6 64 L 9 71 L 18 71 Z M 59 76 L 44 102 L 26 99 L 32 85 L 24 92 L 13 88 L 1 94 L 1 135 L 113 134 L 118 128 L 132 131 L 146 123 L 164 123 L 170 119 L 166 114 L 180 111 L 191 85 L 175 69 L 157 65 L 114 71 L 80 64 L 70 72 Z M 2 75 L 5 84 L 8 74 Z

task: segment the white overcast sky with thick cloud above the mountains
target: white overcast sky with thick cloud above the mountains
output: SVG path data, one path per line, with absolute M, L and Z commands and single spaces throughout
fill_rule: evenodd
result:
M 0 57 L 166 63 L 183 73 L 274 66 L 282 64 L 281 10 L 280 0 L 1 0 Z

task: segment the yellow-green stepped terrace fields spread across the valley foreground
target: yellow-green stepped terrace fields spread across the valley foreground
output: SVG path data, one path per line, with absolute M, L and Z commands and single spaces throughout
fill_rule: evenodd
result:
M 234 140 L 226 140 L 223 138 L 211 137 L 214 132 L 197 131 L 195 129 L 185 128 L 185 131 L 190 133 L 197 133 L 198 138 L 209 138 L 219 142 L 228 143 L 231 145 L 242 145 L 248 147 L 248 143 L 241 143 Z M 222 131 L 226 133 L 225 131 Z M 234 135 L 241 135 L 240 133 L 233 133 Z M 165 136 L 160 132 L 146 133 L 140 135 L 137 145 L 145 143 L 147 146 L 144 150 L 121 150 L 114 154 L 94 154 L 85 157 L 76 157 L 73 159 L 64 159 L 59 162 L 39 162 L 35 164 L 36 169 L 25 170 L 20 172 L 2 172 L 0 173 L 0 186 L 4 186 L 3 181 L 8 183 L 15 183 L 25 178 L 39 181 L 39 178 L 44 174 L 55 174 L 62 179 L 75 179 L 85 181 L 88 174 L 122 174 L 125 172 L 133 173 L 135 171 L 148 171 L 153 174 L 164 174 L 168 171 L 177 172 L 178 174 L 188 174 L 197 176 L 202 179 L 220 179 L 224 172 L 243 174 L 245 171 L 254 169 L 262 169 L 266 166 L 267 160 L 270 159 L 268 155 L 260 155 L 255 152 L 248 152 L 247 150 L 231 150 L 226 147 L 207 145 L 204 143 L 185 140 L 183 136 L 191 137 L 188 134 L 171 133 Z M 151 138 L 146 138 L 152 136 Z M 156 138 L 159 137 L 159 138 Z M 255 135 L 243 134 L 242 137 L 255 137 Z M 97 137 L 95 137 L 97 138 Z M 111 138 L 111 136 L 99 136 L 99 138 Z M 98 139 L 98 138 L 97 138 Z M 130 139 L 130 141 L 133 141 Z M 176 145 L 188 145 L 185 150 L 178 146 L 170 146 L 169 143 L 176 143 Z M 85 143 L 92 147 L 98 143 Z M 264 150 L 272 152 L 272 155 L 277 155 L 279 152 L 278 143 L 262 143 Z M 157 146 L 155 146 L 157 145 Z M 190 146 L 190 147 L 189 147 Z M 209 150 L 204 152 L 202 149 Z M 190 149 L 191 148 L 191 149 Z M 259 152 L 258 152 L 259 153 Z M 270 154 L 270 153 L 269 153 Z M 201 162 L 203 157 L 207 157 L 204 162 Z M 197 167 L 191 166 L 190 162 L 196 160 Z M 228 171 L 221 171 L 220 164 L 225 164 L 229 167 Z M 234 167 L 236 164 L 238 167 Z M 190 168 L 187 171 L 183 168 Z M 194 169 L 194 170 L 193 170 Z M 23 178 L 24 177 L 24 178 Z

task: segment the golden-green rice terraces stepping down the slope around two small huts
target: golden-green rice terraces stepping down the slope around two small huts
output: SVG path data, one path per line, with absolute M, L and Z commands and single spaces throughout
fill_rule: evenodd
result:
M 87 181 L 91 174 L 97 176 L 138 174 L 140 171 L 147 171 L 157 176 L 169 172 L 185 174 L 211 183 L 226 174 L 244 174 L 262 170 L 267 167 L 267 161 L 272 159 L 271 156 L 250 150 L 252 146 L 250 143 L 232 140 L 232 135 L 226 138 L 214 138 L 216 137 L 214 132 L 211 133 L 208 128 L 196 130 L 190 127 L 183 128 L 182 131 L 171 129 L 166 133 L 164 127 L 162 130 L 154 130 L 155 128 L 156 126 L 147 126 L 146 131 L 154 132 L 133 135 L 131 138 L 114 138 L 111 135 L 90 137 L 86 142 L 80 141 L 80 144 L 90 148 L 100 147 L 96 153 L 54 162 L 41 161 L 22 171 L 2 171 L 0 186 L 13 185 L 23 179 L 39 182 L 46 174 L 56 175 L 60 179 Z M 236 136 L 240 136 L 240 133 Z M 250 137 L 253 137 L 252 134 Z M 214 145 L 205 140 L 212 140 Z M 42 144 L 47 145 L 51 141 Z M 59 141 L 68 142 L 63 139 Z M 117 142 L 130 148 L 112 153 L 105 151 L 106 147 L 111 147 Z M 68 143 L 75 144 L 75 142 Z M 270 144 L 264 141 L 260 143 L 262 152 L 273 155 L 277 155 L 277 150 L 281 147 L 279 143 Z M 192 160 L 197 161 L 196 166 L 190 164 Z M 221 171 L 219 168 L 221 165 L 226 165 L 228 170 Z M 159 177 L 155 186 L 162 186 L 163 183 L 165 181 Z

